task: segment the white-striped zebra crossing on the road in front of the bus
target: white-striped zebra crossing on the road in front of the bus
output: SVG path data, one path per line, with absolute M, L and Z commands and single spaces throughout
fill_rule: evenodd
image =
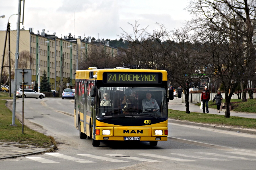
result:
M 225 154 L 216 154 L 210 152 L 194 152 L 193 154 L 168 153 L 168 156 L 148 153 L 135 153 L 133 155 L 124 154 L 105 154 L 103 156 L 92 154 L 72 154 L 64 155 L 59 153 L 45 153 L 41 157 L 26 156 L 28 160 L 40 163 L 60 163 L 61 160 L 74 161 L 79 163 L 96 163 L 97 161 L 108 161 L 115 163 L 129 163 L 134 161 L 141 162 L 198 162 L 198 161 L 233 161 L 233 160 L 256 160 L 256 153 L 251 152 L 225 152 Z M 43 158 L 47 157 L 47 158 Z M 56 160 L 58 158 L 58 160 Z M 51 160 L 55 159 L 55 160 Z M 61 159 L 61 160 L 60 160 Z M 90 159 L 90 160 L 88 160 Z

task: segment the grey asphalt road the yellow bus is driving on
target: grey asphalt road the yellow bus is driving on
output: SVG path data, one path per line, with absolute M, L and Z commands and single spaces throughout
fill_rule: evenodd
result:
M 21 100 L 16 111 L 22 111 Z M 79 138 L 72 99 L 24 99 L 24 117 L 41 125 L 46 135 L 60 142 L 59 150 L 1 160 L 1 169 L 255 169 L 256 135 L 197 126 L 168 124 L 168 141 L 105 142 L 93 147 Z

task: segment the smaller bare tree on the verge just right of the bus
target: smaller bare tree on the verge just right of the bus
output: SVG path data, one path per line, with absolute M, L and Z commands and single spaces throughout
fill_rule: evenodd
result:
M 189 88 L 195 86 L 200 78 L 204 77 L 201 73 L 196 73 L 196 69 L 202 68 L 200 64 L 200 47 L 195 34 L 190 33 L 189 27 L 176 29 L 173 33 L 173 40 L 169 41 L 168 46 L 172 49 L 168 51 L 165 62 L 168 63 L 166 70 L 168 75 L 177 82 L 185 94 L 186 113 L 189 111 Z

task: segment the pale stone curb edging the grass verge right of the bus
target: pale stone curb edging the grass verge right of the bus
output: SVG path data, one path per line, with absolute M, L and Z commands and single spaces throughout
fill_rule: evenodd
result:
M 256 129 L 232 128 L 232 127 L 224 127 L 224 126 L 211 125 L 211 124 L 186 122 L 186 121 L 173 120 L 173 119 L 168 119 L 168 123 L 177 123 L 177 124 L 183 124 L 183 125 L 201 126 L 201 127 L 205 127 L 205 128 L 213 128 L 213 129 L 220 129 L 220 130 L 227 130 L 227 131 L 236 131 L 236 132 L 241 132 L 241 133 L 256 134 Z

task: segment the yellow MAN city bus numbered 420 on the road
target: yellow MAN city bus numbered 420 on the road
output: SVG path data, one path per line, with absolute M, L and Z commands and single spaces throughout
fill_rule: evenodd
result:
M 76 71 L 75 127 L 80 139 L 167 141 L 167 72 L 147 69 Z

